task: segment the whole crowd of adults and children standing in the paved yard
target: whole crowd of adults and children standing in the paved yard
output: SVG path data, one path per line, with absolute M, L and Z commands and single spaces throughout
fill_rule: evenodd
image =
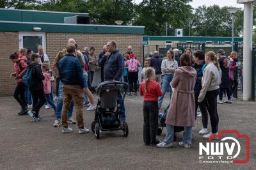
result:
M 146 145 L 160 148 L 172 147 L 175 127 L 184 127 L 184 138 L 179 143 L 184 148 L 191 148 L 192 127 L 197 116 L 202 116 L 202 129 L 199 134 L 209 139 L 218 134 L 217 103 L 232 103 L 232 94 L 237 86 L 237 52 L 230 57 L 224 50 L 204 53 L 185 49 L 179 57 L 179 49 L 168 50 L 161 58 L 156 50 L 145 59 L 141 71 L 141 84 L 138 86 L 138 74 L 141 63 L 132 52 L 132 47 L 121 54 L 116 49 L 116 42 L 109 41 L 103 46 L 99 58 L 95 56 L 94 47 L 80 50 L 76 41 L 70 38 L 67 46 L 60 50 L 51 65 L 43 47 L 38 46 L 38 53 L 20 49 L 10 56 L 14 63 L 17 86 L 14 97 L 19 102 L 19 115 L 29 114 L 34 121 L 42 120 L 40 108 L 49 105 L 54 109 L 53 127 L 62 125 L 62 132 L 72 132 L 68 124 L 77 123 L 79 134 L 88 133 L 84 127 L 83 107 L 94 111 L 96 100 L 93 98 L 95 88 L 92 86 L 95 71 L 100 72 L 100 81 L 124 81 L 129 84 L 127 95 L 143 96 L 143 140 Z M 53 83 L 56 82 L 56 96 L 53 95 Z M 166 137 L 160 142 L 156 138 L 159 109 L 164 95 L 170 95 L 170 109 L 166 116 Z M 223 93 L 228 100 L 223 101 Z M 220 100 L 217 102 L 219 95 Z M 54 103 L 56 102 L 56 104 Z M 123 102 L 120 95 L 118 103 Z M 72 112 L 76 108 L 76 120 Z M 200 115 L 198 114 L 198 107 Z M 208 114 L 211 120 L 211 132 L 207 130 Z M 120 113 L 121 123 L 125 121 L 125 105 Z

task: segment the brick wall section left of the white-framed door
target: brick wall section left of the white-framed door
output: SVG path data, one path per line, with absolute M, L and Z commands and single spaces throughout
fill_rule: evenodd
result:
M 10 77 L 14 72 L 10 54 L 19 50 L 19 33 L 0 31 L 0 97 L 13 94 L 15 79 Z

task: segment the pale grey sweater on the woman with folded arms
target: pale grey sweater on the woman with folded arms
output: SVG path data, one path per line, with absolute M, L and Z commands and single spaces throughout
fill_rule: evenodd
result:
M 162 65 L 161 65 L 162 75 L 174 74 L 177 68 L 178 68 L 178 63 L 174 59 L 171 59 L 171 60 L 164 59 L 162 61 Z

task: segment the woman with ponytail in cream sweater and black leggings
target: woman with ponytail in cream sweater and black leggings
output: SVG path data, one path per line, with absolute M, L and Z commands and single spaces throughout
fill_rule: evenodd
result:
M 211 135 L 218 134 L 219 116 L 217 111 L 217 97 L 220 93 L 221 70 L 215 53 L 209 51 L 205 54 L 205 67 L 202 77 L 202 89 L 198 97 L 198 102 L 205 99 L 206 107 L 209 112 L 212 130 L 209 134 L 203 136 L 209 139 Z

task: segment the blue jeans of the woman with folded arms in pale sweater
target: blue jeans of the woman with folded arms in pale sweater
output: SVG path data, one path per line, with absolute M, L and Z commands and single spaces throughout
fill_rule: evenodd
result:
M 166 92 L 170 93 L 170 97 L 172 96 L 172 88 L 170 86 L 170 82 L 172 81 L 172 79 L 173 79 L 172 74 L 163 75 L 163 78 L 162 78 L 163 82 L 162 82 L 162 86 L 161 86 L 163 95 L 161 97 L 159 97 L 159 100 L 158 100 L 158 107 L 159 108 L 162 106 L 162 103 L 163 103 L 163 100 L 164 100 L 164 95 L 165 95 Z

